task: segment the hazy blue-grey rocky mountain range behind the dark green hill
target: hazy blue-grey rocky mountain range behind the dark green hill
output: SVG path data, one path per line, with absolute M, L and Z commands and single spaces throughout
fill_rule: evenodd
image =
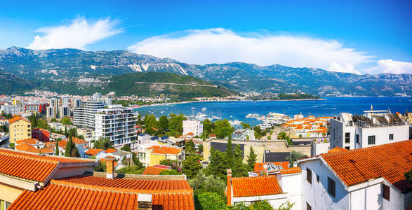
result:
M 39 87 L 36 83 L 42 83 L 43 87 L 51 90 L 53 83 L 70 83 L 74 84 L 72 87 L 85 88 L 110 80 L 111 76 L 147 71 L 194 76 L 239 92 L 305 92 L 320 96 L 392 96 L 412 92 L 412 75 L 408 73 L 357 75 L 323 69 L 292 68 L 277 64 L 258 66 L 241 62 L 196 65 L 135 54 L 127 50 L 89 52 L 76 49 L 29 50 L 12 47 L 0 50 L 0 71 L 3 71 L 0 74 L 2 78 L 22 80 L 14 87 L 0 87 L 2 92 L 4 88 L 23 90 L 27 87 Z M 30 86 L 30 83 L 34 85 Z

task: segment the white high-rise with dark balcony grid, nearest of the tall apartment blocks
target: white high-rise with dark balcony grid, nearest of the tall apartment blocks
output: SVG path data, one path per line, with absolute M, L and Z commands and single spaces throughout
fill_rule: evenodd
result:
M 137 140 L 135 132 L 135 113 L 133 109 L 121 105 L 109 105 L 98 109 L 94 114 L 95 140 L 108 138 L 113 146 L 120 147 Z

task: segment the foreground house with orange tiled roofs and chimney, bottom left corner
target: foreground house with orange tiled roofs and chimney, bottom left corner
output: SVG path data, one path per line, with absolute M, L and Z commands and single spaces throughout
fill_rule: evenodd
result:
M 0 148 L 1 209 L 194 209 L 185 176 L 93 172 L 96 162 Z

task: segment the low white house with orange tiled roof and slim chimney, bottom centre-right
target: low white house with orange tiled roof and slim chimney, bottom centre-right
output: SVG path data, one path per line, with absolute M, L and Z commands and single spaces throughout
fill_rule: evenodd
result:
M 276 175 L 253 177 L 232 177 L 232 170 L 227 169 L 227 205 L 266 200 L 274 209 L 285 202 L 294 203 L 293 209 L 301 209 L 301 179 L 299 167 L 280 169 Z

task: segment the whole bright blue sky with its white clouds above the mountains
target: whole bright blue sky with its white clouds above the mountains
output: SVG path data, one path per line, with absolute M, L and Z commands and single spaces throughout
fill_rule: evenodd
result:
M 412 73 L 411 11 L 412 1 L 0 0 L 0 48 Z

